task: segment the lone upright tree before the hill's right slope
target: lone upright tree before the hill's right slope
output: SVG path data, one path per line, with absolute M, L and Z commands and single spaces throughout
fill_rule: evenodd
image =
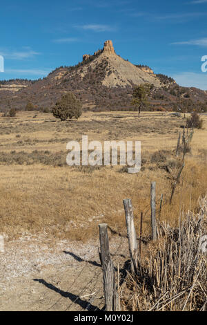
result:
M 139 115 L 141 109 L 148 107 L 148 95 L 150 95 L 150 91 L 154 88 L 153 84 L 140 84 L 136 86 L 132 93 L 132 105 L 135 106 L 137 111 L 139 111 Z

